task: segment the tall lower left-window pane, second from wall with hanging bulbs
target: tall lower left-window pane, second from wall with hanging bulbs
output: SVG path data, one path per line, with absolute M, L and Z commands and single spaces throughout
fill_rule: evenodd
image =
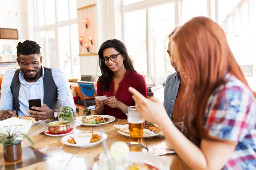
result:
M 61 59 L 61 70 L 68 79 L 72 79 L 70 58 L 70 29 L 69 26 L 58 28 L 59 58 Z

